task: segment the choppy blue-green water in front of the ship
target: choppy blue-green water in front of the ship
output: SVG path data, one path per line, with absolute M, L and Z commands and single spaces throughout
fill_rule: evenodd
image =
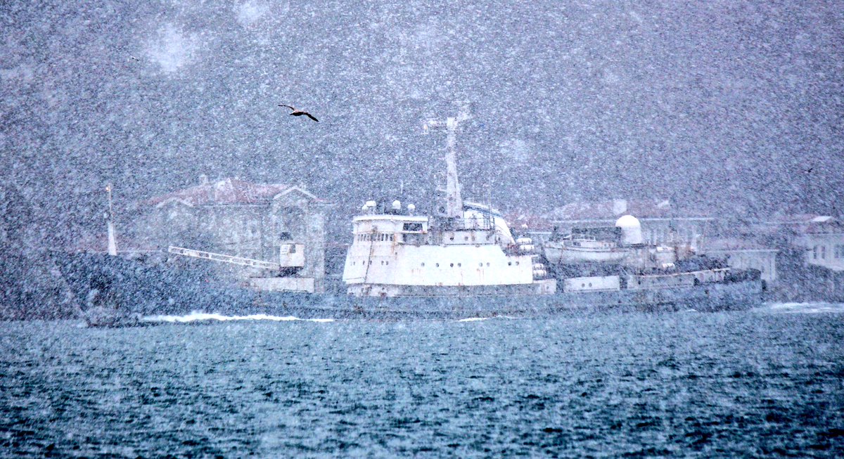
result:
M 193 319 L 0 324 L 0 456 L 844 454 L 844 305 Z

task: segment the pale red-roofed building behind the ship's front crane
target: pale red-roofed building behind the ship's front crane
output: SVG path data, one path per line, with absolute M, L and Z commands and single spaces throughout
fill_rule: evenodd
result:
M 304 186 L 203 175 L 197 186 L 140 202 L 133 233 L 153 249 L 180 246 L 267 262 L 278 262 L 281 242 L 293 240 L 305 244 L 300 275 L 319 281 L 325 276 L 325 207 Z M 235 274 L 244 277 L 250 269 Z

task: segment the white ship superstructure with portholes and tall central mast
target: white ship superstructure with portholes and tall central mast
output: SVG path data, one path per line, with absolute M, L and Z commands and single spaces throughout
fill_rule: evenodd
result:
M 445 127 L 446 199 L 441 213 L 414 215 L 411 204 L 390 208 L 370 201 L 354 217 L 354 240 L 343 279 L 355 296 L 477 296 L 553 294 L 533 246 L 513 240 L 501 214 L 463 202 L 457 180 L 456 131 L 462 113 L 426 129 Z M 525 241 L 522 241 L 525 242 Z

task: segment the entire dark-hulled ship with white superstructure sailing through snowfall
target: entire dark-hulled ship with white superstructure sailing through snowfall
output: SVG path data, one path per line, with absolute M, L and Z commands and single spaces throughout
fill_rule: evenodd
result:
M 242 284 L 208 278 L 116 253 L 57 253 L 57 265 L 91 326 L 142 325 L 150 317 L 191 312 L 319 319 L 464 319 L 536 317 L 583 311 L 723 311 L 760 303 L 758 272 L 678 247 L 641 241 L 638 220 L 581 229 L 534 244 L 513 235 L 489 203 L 464 201 L 456 133 L 466 112 L 427 121 L 447 148 L 442 205 L 425 215 L 414 204 L 365 202 L 352 220 L 344 291 L 317 292 L 297 278 L 302 247 L 282 244 L 278 262 L 170 246 L 170 254 L 265 270 Z M 110 205 L 111 207 L 111 205 Z M 681 253 L 682 252 L 682 253 Z

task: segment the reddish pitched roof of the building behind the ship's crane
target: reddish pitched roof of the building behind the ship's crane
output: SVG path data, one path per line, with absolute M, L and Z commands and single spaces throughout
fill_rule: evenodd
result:
M 226 178 L 152 197 L 143 203 L 150 206 L 161 206 L 167 202 L 181 202 L 191 207 L 212 204 L 252 204 L 268 202 L 279 194 L 293 191 L 304 193 L 311 199 L 318 201 L 317 197 L 299 186 L 278 183 L 258 184 L 236 178 Z

